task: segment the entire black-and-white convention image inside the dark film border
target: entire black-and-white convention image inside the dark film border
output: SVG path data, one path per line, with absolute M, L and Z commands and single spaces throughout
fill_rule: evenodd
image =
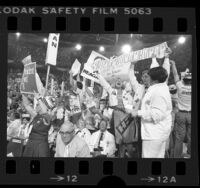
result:
M 7 51 L 7 157 L 192 157 L 192 35 L 17 32 Z

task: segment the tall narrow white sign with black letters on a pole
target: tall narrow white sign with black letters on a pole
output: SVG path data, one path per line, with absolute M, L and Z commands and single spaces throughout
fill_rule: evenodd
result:
M 59 43 L 59 33 L 50 33 L 48 38 L 47 53 L 46 53 L 46 64 L 56 65 L 57 53 L 58 53 L 58 43 Z

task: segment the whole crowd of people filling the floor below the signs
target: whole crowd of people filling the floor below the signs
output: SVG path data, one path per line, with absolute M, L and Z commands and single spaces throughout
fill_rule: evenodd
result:
M 179 79 L 170 52 L 162 66 L 153 55 L 142 83 L 132 62 L 127 82 L 116 78 L 110 85 L 97 71 L 100 84 L 89 84 L 70 73 L 63 96 L 35 94 L 33 100 L 18 92 L 16 103 L 9 94 L 7 156 L 190 157 L 191 73 Z M 170 69 L 175 84 L 169 86 Z

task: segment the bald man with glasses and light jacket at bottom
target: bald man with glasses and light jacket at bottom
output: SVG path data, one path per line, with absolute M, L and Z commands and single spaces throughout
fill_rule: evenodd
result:
M 75 126 L 65 121 L 56 139 L 55 157 L 91 157 L 87 143 L 75 134 Z

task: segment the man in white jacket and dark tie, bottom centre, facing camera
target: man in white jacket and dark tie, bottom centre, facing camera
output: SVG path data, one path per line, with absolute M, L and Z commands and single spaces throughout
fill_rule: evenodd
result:
M 107 121 L 101 120 L 99 130 L 94 132 L 90 140 L 90 151 L 94 157 L 114 157 L 116 146 L 114 136 L 107 131 Z

